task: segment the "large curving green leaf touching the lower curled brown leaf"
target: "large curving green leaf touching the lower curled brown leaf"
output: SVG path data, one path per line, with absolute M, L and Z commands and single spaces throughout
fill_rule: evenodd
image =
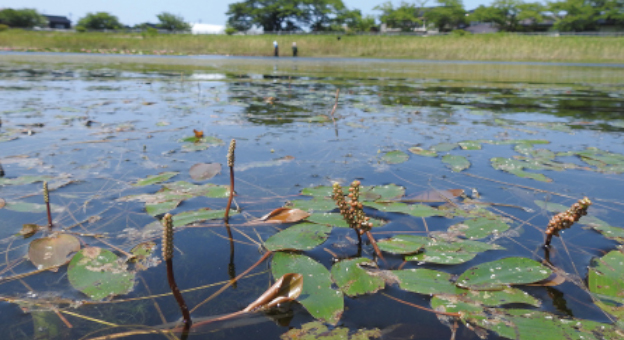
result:
M 287 273 L 303 275 L 303 291 L 298 301 L 315 318 L 335 325 L 344 311 L 341 291 L 331 288 L 329 271 L 305 255 L 278 252 L 273 255 L 271 269 L 274 277 Z

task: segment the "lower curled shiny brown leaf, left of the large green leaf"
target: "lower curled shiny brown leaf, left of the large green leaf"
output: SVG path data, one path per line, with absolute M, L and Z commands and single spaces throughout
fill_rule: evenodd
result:
M 303 276 L 301 274 L 288 273 L 280 277 L 264 294 L 256 301 L 243 309 L 244 312 L 255 312 L 275 307 L 280 303 L 296 300 L 303 290 Z

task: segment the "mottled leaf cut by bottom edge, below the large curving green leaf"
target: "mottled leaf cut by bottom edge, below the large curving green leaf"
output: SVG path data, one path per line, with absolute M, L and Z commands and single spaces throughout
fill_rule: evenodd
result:
M 57 318 L 58 319 L 58 318 Z M 329 330 L 322 322 L 312 321 L 301 325 L 301 329 L 293 328 L 280 336 L 281 340 L 369 340 L 380 339 L 381 330 L 358 329 L 355 332 L 346 327 Z

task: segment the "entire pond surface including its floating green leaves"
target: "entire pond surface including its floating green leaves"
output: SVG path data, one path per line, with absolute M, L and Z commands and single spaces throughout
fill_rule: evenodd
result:
M 181 314 L 160 253 L 158 220 L 166 212 L 177 221 L 177 285 L 196 323 L 242 310 L 284 270 L 305 274 L 302 304 L 199 326 L 190 338 L 290 339 L 302 328 L 309 339 L 339 332 L 359 332 L 358 339 L 619 338 L 622 73 L 597 65 L 3 55 L 3 338 L 171 338 L 163 330 Z M 232 139 L 236 197 L 226 228 Z M 198 163 L 218 163 L 221 171 L 198 179 L 189 172 Z M 141 182 L 161 173 L 169 174 Z M 358 246 L 340 216 L 328 215 L 338 210 L 324 187 L 356 179 L 383 260 L 366 236 Z M 42 181 L 51 189 L 54 228 L 25 237 L 24 224 L 48 223 Z M 551 217 L 585 196 L 593 203 L 588 215 L 546 252 Z M 283 206 L 311 214 L 308 223 L 317 224 L 304 224 L 309 230 L 300 234 L 312 233 L 302 242 L 316 243 L 287 251 L 275 244 L 288 239 L 275 236 L 270 258 L 200 305 L 261 259 L 269 238 L 306 222 L 258 221 Z M 80 242 L 80 255 L 111 251 L 107 265 L 82 266 L 110 275 L 85 282 L 77 258 L 65 265 L 73 252 L 56 241 L 61 231 Z M 408 254 L 392 251 L 392 242 L 409 239 L 401 235 L 425 243 Z M 49 241 L 40 248 L 62 253 L 56 271 L 38 270 L 49 262 L 29 257 L 38 239 Z M 479 243 L 469 247 L 468 239 Z M 151 254 L 126 262 L 149 241 Z M 359 266 L 357 258 L 370 262 Z M 512 262 L 518 271 L 548 274 L 499 282 L 497 271 L 509 264 L 495 262 L 491 275 L 462 280 L 478 275 L 475 266 L 510 258 L 531 260 L 531 268 Z M 349 269 L 355 273 L 341 281 Z M 412 282 L 402 276 L 412 269 L 435 272 Z M 478 280 L 490 288 L 470 286 Z M 363 281 L 379 286 L 350 291 Z M 505 288 L 511 284 L 520 292 Z M 485 302 L 499 293 L 508 295 Z

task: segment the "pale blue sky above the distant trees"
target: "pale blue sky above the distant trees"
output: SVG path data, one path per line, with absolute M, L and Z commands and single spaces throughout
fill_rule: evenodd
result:
M 89 12 L 109 12 L 116 15 L 124 25 L 135 25 L 143 22 L 158 22 L 156 15 L 162 12 L 171 12 L 181 15 L 191 23 L 225 25 L 225 12 L 228 5 L 240 0 L 4 0 L 0 8 L 34 8 L 41 14 L 67 16 L 72 24 Z M 363 14 L 378 15 L 373 7 L 385 0 L 343 0 L 349 9 L 360 9 Z M 411 1 L 407 1 L 411 2 Z M 479 5 L 488 5 L 491 0 L 464 0 L 466 9 L 474 9 Z M 395 6 L 401 0 L 392 0 Z M 427 5 L 435 5 L 435 0 L 429 0 Z

